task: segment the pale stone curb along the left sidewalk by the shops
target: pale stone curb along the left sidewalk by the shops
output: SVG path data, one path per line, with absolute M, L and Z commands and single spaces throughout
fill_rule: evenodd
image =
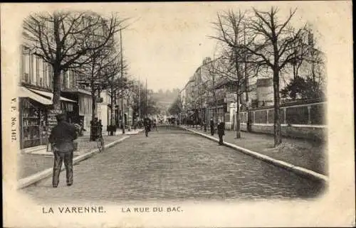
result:
M 123 136 L 121 139 L 118 139 L 117 141 L 113 141 L 111 143 L 108 143 L 104 147 L 105 148 L 110 148 L 112 146 L 115 146 L 117 143 L 120 143 L 120 142 L 122 142 L 122 141 L 124 141 L 125 139 L 128 139 L 128 138 L 130 138 L 130 136 Z M 98 148 L 94 149 L 93 151 L 90 151 L 88 153 L 84 153 L 84 154 L 82 154 L 80 156 L 77 156 L 77 157 L 73 158 L 73 165 L 78 164 L 78 163 L 80 163 L 80 161 L 83 161 L 83 160 L 85 160 L 87 158 L 90 158 L 95 153 L 98 153 Z M 105 151 L 104 151 L 104 153 L 105 153 Z M 62 166 L 61 171 L 62 170 L 65 170 L 64 166 Z M 37 183 L 38 181 L 43 180 L 44 178 L 47 178 L 48 176 L 52 175 L 52 173 L 53 173 L 53 168 L 47 168 L 46 170 L 43 170 L 41 172 L 35 173 L 33 175 L 30 175 L 30 176 L 28 176 L 26 178 L 22 178 L 21 180 L 19 180 L 17 182 L 17 189 L 26 188 L 28 185 L 33 185 L 34 183 Z

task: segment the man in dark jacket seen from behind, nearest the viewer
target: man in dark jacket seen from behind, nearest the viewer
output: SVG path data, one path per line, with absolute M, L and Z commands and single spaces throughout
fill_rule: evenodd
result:
M 66 166 L 67 185 L 73 185 L 73 140 L 77 139 L 75 127 L 68 124 L 66 114 L 58 114 L 56 119 L 58 124 L 52 129 L 48 138 L 54 153 L 53 188 L 58 186 L 63 161 Z

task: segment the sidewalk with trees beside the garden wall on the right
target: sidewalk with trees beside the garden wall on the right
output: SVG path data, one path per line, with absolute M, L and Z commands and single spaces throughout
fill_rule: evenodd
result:
M 187 126 L 184 127 L 211 136 L 209 129 L 204 132 L 204 129 L 202 131 L 200 130 L 200 126 L 198 126 L 197 129 Z M 214 134 L 214 137 L 219 139 L 217 134 Z M 323 175 L 328 175 L 326 143 L 283 137 L 281 145 L 277 148 L 273 148 L 273 135 L 241 131 L 241 139 L 235 138 L 236 131 L 225 131 L 223 139 L 228 143 L 233 143 L 236 146 L 247 148 L 248 150 L 270 156 L 271 158 L 307 168 Z

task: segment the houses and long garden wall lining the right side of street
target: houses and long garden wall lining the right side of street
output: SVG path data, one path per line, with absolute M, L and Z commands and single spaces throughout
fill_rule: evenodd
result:
M 182 105 L 179 119 L 185 124 L 208 124 L 209 120 L 218 119 L 225 122 L 226 129 L 236 129 L 236 109 L 239 99 L 240 127 L 246 130 L 247 116 L 251 116 L 253 131 L 273 133 L 273 80 L 271 72 L 259 72 L 255 77 L 246 77 L 241 84 L 239 94 L 236 95 L 236 82 L 226 75 L 217 72 L 214 65 L 219 64 L 219 58 L 211 60 L 205 58 L 197 67 L 192 77 L 181 90 L 179 99 Z M 308 73 L 308 65 L 303 68 Z M 280 89 L 286 86 L 293 75 L 284 77 Z M 288 134 L 299 134 L 302 137 L 315 136 L 323 138 L 325 129 L 326 102 L 323 99 L 297 100 L 288 102 L 281 99 L 281 123 L 295 127 L 295 131 Z M 248 112 L 247 112 L 248 109 Z M 283 129 L 285 131 L 285 129 Z M 305 128 L 307 130 L 305 130 Z M 309 131 L 311 129 L 311 131 Z M 315 133 L 316 132 L 316 133 Z M 284 133 L 283 133 L 284 134 Z M 288 135 L 287 133 L 285 133 Z

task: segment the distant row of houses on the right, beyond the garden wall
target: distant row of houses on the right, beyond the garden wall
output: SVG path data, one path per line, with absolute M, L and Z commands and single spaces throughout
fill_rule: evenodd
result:
M 189 78 L 180 92 L 182 121 L 191 119 L 197 124 L 221 119 L 226 126 L 231 126 L 236 118 L 236 99 L 234 82 L 227 80 L 224 75 L 214 72 L 214 65 L 219 64 L 219 58 L 211 60 L 205 58 L 203 63 Z M 216 70 L 215 70 L 216 71 Z M 246 80 L 247 87 L 241 87 L 239 108 L 264 107 L 273 104 L 273 81 L 271 77 L 251 77 Z M 246 95 L 247 94 L 247 95 Z

